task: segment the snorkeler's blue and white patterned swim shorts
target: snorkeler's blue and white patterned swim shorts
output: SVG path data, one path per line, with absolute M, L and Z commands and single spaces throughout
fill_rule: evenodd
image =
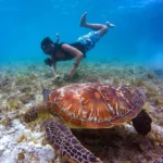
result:
M 86 51 L 88 51 L 92 49 L 99 40 L 100 40 L 99 33 L 90 32 L 87 35 L 79 37 L 77 41 L 85 47 Z

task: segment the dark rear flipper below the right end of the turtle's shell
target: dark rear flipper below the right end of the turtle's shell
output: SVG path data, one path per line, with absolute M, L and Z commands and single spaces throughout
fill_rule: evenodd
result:
M 135 118 L 133 125 L 138 134 L 146 136 L 151 130 L 152 120 L 149 114 L 142 110 Z

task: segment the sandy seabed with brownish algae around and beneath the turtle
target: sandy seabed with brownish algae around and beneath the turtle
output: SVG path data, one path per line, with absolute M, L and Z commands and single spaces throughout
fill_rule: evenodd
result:
M 71 65 L 59 64 L 59 74 L 66 73 Z M 74 79 L 65 82 L 54 80 L 50 70 L 42 64 L 5 64 L 0 67 L 0 163 L 53 163 L 55 152 L 43 140 L 40 127 L 42 118 L 49 115 L 26 124 L 23 114 L 42 101 L 42 86 L 57 89 L 73 83 L 96 82 L 143 88 L 147 96 L 143 109 L 163 130 L 163 70 L 114 62 L 83 62 Z M 98 141 L 98 136 L 93 136 L 92 141 L 89 131 L 78 139 L 103 163 L 163 163 L 163 135 L 156 139 L 149 136 L 150 147 L 142 148 L 131 123 L 124 126 L 108 129 L 103 141 Z

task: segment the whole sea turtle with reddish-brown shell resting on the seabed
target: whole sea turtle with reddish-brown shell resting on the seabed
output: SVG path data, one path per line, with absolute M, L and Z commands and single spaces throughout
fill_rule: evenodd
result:
M 43 102 L 24 114 L 26 123 L 39 113 L 58 115 L 64 124 L 49 120 L 43 123 L 46 138 L 57 154 L 71 163 L 100 163 L 84 148 L 70 128 L 111 128 L 133 120 L 140 135 L 151 130 L 151 118 L 142 111 L 143 91 L 126 85 L 102 83 L 73 84 L 57 90 L 42 90 Z

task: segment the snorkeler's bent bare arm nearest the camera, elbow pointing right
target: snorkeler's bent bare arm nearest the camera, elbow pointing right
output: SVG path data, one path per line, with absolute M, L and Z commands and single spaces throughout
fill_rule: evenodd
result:
M 63 43 L 62 48 L 64 51 L 70 52 L 75 58 L 75 62 L 74 62 L 71 71 L 67 73 L 67 76 L 70 78 L 72 78 L 74 76 L 75 71 L 76 71 L 77 66 L 79 65 L 82 59 L 84 58 L 84 54 L 79 50 L 77 50 L 76 48 L 74 48 L 70 45 L 66 45 L 66 43 Z

